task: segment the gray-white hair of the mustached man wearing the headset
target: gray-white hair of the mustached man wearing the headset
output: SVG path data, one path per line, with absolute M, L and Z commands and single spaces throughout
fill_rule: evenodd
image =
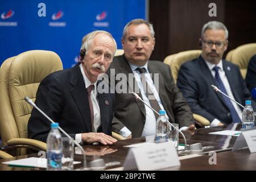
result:
M 80 51 L 81 50 L 85 50 L 85 54 L 87 54 L 87 51 L 89 50 L 90 48 L 90 44 L 92 44 L 92 40 L 93 38 L 98 35 L 98 34 L 106 34 L 108 35 L 114 42 L 114 47 L 115 47 L 115 50 L 114 50 L 114 55 L 115 55 L 115 51 L 117 51 L 117 43 L 115 42 L 115 39 L 113 38 L 113 36 L 107 32 L 107 31 L 104 31 L 104 30 L 96 30 L 96 31 L 93 31 L 93 32 L 90 32 L 89 34 L 85 35 L 83 38 L 82 38 L 82 46 L 80 48 Z M 113 56 L 114 56 L 113 55 Z

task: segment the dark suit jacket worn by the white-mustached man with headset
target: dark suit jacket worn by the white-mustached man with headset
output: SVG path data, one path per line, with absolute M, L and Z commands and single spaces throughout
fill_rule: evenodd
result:
M 101 114 L 98 132 L 111 135 L 114 94 L 98 93 L 97 97 Z M 88 93 L 78 64 L 44 78 L 36 93 L 35 104 L 73 138 L 79 133 L 92 132 Z M 28 138 L 46 142 L 50 125 L 39 111 L 32 109 Z

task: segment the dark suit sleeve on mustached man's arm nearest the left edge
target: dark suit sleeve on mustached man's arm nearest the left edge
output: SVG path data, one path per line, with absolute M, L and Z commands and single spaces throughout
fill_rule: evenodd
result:
M 63 110 L 63 97 L 58 79 L 53 75 L 49 75 L 40 83 L 38 92 L 36 93 L 35 104 L 46 113 L 49 118 L 55 122 L 59 122 L 61 111 Z M 60 123 L 61 126 L 61 123 Z M 28 120 L 28 138 L 41 140 L 46 142 L 51 122 L 48 121 L 38 110 L 32 109 L 31 117 Z M 75 138 L 75 134 L 70 134 Z M 63 135 L 64 136 L 64 135 Z

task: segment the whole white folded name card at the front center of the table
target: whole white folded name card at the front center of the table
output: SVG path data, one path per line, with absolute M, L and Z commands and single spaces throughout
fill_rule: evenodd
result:
M 130 148 L 123 169 L 150 171 L 174 166 L 180 166 L 174 144 L 163 142 L 151 146 Z

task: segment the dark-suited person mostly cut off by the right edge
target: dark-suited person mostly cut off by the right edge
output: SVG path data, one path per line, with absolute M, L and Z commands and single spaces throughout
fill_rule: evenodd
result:
M 256 88 L 256 55 L 249 61 L 245 82 L 249 90 Z

